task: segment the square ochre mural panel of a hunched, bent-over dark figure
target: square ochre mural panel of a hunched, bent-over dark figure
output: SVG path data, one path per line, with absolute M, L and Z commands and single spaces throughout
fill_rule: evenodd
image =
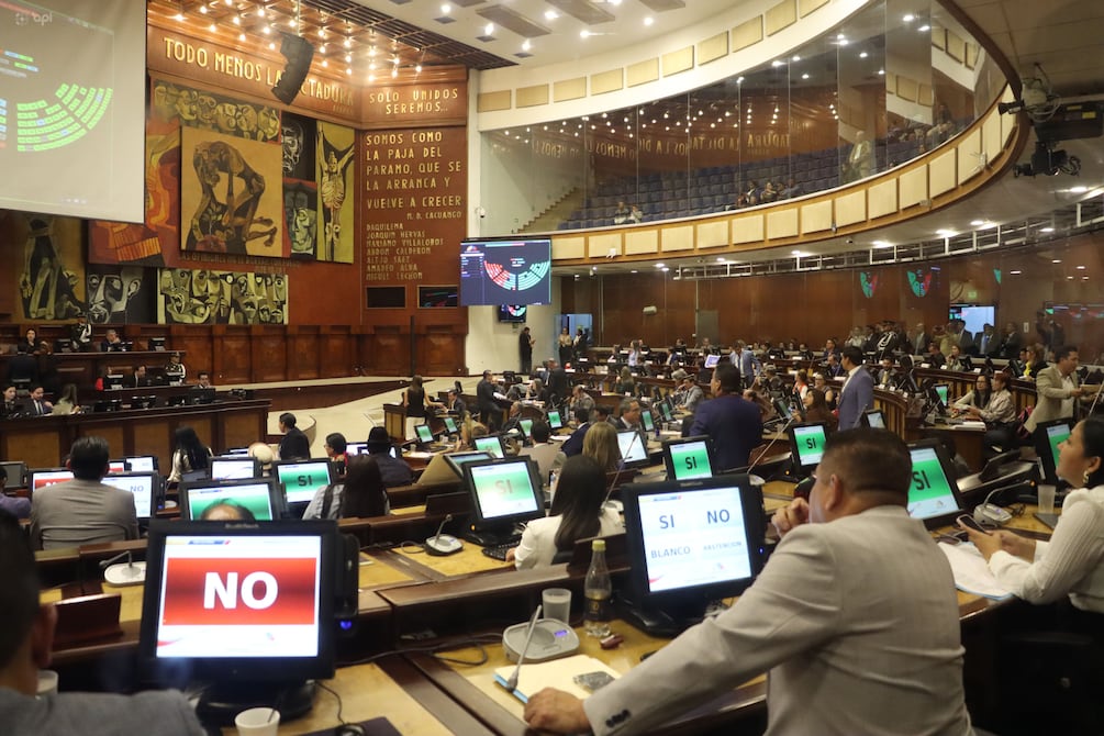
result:
M 280 237 L 280 148 L 181 130 L 181 250 L 286 256 Z

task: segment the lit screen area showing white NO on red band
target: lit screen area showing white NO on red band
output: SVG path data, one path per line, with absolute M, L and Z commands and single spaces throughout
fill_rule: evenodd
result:
M 157 657 L 317 655 L 321 546 L 306 534 L 168 536 Z

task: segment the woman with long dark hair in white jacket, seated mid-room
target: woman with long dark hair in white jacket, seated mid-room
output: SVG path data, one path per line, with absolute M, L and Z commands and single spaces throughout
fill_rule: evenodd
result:
M 587 433 L 590 434 L 590 433 Z M 608 536 L 623 531 L 618 513 L 603 506 L 606 473 L 591 458 L 567 458 L 552 497 L 551 514 L 526 526 L 521 544 L 507 553 L 507 562 L 518 569 L 552 564 L 558 552 L 591 536 Z

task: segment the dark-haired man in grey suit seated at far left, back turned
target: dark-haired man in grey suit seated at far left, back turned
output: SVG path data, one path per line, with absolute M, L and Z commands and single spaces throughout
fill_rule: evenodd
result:
M 68 460 L 73 480 L 40 489 L 31 499 L 35 550 L 138 538 L 134 495 L 99 482 L 107 474 L 108 457 L 103 437 L 73 442 Z

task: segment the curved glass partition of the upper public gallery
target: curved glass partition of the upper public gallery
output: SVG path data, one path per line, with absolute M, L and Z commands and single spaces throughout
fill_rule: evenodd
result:
M 482 134 L 480 234 L 701 216 L 859 181 L 946 142 L 1002 85 L 937 3 L 884 0 L 699 89 Z

